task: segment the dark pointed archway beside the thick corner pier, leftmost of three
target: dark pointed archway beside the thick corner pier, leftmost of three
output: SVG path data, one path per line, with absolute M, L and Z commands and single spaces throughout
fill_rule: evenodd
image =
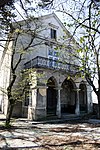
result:
M 47 81 L 47 115 L 56 115 L 57 107 L 57 92 L 56 92 L 57 81 L 52 76 Z

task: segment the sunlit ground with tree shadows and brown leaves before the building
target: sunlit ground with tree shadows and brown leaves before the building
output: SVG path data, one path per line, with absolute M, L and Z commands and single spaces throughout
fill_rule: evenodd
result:
M 88 120 L 31 122 L 17 119 L 10 129 L 0 119 L 0 149 L 99 150 L 100 123 Z

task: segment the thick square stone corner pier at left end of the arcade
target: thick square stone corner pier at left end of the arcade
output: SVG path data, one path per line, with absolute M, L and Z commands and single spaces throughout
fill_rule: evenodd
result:
M 32 105 L 28 107 L 28 118 L 39 120 L 46 117 L 46 86 L 32 89 Z

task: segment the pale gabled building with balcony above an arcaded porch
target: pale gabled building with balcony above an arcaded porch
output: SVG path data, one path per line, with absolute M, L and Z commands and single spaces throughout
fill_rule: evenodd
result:
M 91 87 L 85 79 L 76 76 L 79 61 L 72 54 L 75 54 L 78 44 L 73 38 L 69 41 L 70 33 L 55 14 L 40 17 L 37 22 L 39 28 L 36 38 L 18 67 L 18 72 L 30 70 L 28 76 L 31 76 L 31 80 L 23 101 L 20 100 L 15 105 L 13 116 L 39 120 L 49 116 L 61 118 L 92 112 Z M 25 30 L 28 28 L 25 24 L 23 27 Z M 29 28 L 33 27 L 34 23 L 31 21 Z M 27 46 L 28 41 L 28 33 L 21 35 L 16 51 L 22 45 Z M 5 88 L 10 80 L 11 64 L 7 60 L 11 60 L 12 49 L 13 42 L 8 46 L 1 66 L 1 85 Z M 6 114 L 8 101 L 4 92 L 1 92 L 0 99 L 1 110 Z

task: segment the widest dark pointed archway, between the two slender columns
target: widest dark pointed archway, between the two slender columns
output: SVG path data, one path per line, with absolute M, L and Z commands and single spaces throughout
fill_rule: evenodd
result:
M 76 85 L 72 79 L 68 80 L 66 78 L 61 87 L 61 112 L 74 114 L 76 108 Z

